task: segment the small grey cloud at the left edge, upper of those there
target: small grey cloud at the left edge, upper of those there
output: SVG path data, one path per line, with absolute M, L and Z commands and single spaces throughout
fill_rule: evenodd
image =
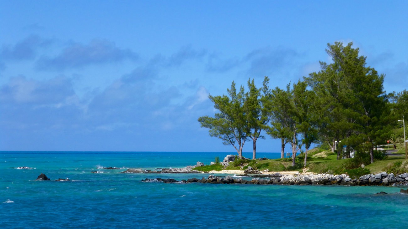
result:
M 42 39 L 36 35 L 31 35 L 14 46 L 4 45 L 0 51 L 0 57 L 8 60 L 29 60 L 34 59 L 36 50 L 51 44 L 51 40 Z

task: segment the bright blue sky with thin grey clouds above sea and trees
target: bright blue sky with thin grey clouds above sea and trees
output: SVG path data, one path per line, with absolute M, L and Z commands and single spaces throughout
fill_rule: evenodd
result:
M 400 92 L 407 12 L 405 0 L 2 0 L 0 150 L 236 153 L 197 122 L 216 112 L 209 94 L 264 76 L 283 88 L 330 63 L 335 41 Z

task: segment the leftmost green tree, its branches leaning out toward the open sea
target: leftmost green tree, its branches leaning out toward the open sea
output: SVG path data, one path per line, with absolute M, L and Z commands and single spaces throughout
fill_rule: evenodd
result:
M 208 128 L 211 137 L 223 140 L 224 145 L 232 145 L 242 159 L 242 148 L 248 139 L 247 117 L 244 112 L 245 94 L 244 87 L 239 92 L 235 88 L 234 81 L 231 89 L 227 89 L 228 96 L 211 96 L 208 98 L 214 103 L 214 108 L 220 111 L 215 113 L 214 118 L 202 116 L 198 118 L 201 127 Z

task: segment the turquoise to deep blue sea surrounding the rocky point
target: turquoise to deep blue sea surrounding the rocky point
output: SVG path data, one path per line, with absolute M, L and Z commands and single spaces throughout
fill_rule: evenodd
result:
M 406 228 L 399 187 L 144 183 L 208 174 L 121 174 L 209 164 L 226 153 L 0 152 L 0 228 Z M 277 158 L 279 153 L 257 157 Z M 250 157 L 251 154 L 244 154 Z M 29 166 L 20 170 L 10 167 Z M 120 167 L 104 170 L 98 167 Z M 103 173 L 93 174 L 91 171 Z M 35 181 L 40 173 L 51 180 Z M 407 188 L 407 187 L 404 187 Z M 376 194 L 377 192 L 388 194 Z

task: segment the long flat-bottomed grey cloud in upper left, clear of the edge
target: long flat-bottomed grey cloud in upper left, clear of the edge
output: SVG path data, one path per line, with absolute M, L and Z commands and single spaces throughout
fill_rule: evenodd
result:
M 37 63 L 38 70 L 64 70 L 81 68 L 86 65 L 120 62 L 125 59 L 135 60 L 137 54 L 129 49 L 120 49 L 113 42 L 94 39 L 89 44 L 70 44 L 55 57 L 41 57 Z

